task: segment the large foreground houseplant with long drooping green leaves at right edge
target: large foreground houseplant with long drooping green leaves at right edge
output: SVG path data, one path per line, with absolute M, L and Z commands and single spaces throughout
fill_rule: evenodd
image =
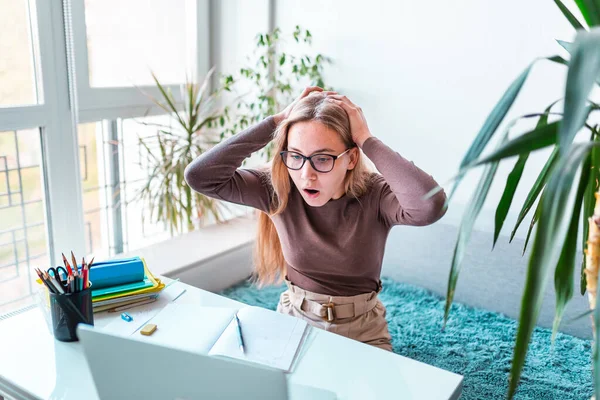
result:
M 582 246 L 586 249 L 587 245 L 587 257 L 584 257 L 581 266 L 580 287 L 583 295 L 587 285 L 590 306 L 594 309 L 593 378 L 596 398 L 600 398 L 600 335 L 598 334 L 600 309 L 595 307 L 595 299 L 598 295 L 596 283 L 600 259 L 600 238 L 598 236 L 600 232 L 594 220 L 596 218 L 596 221 L 600 222 L 600 216 L 593 217 L 595 196 L 600 196 L 600 192 L 597 192 L 600 179 L 600 128 L 590 122 L 590 115 L 600 110 L 600 106 L 589 99 L 592 88 L 600 82 L 600 28 L 598 28 L 600 25 L 600 1 L 576 0 L 585 22 L 579 21 L 560 0 L 554 1 L 578 32 L 574 43 L 558 41 L 570 53 L 570 59 L 567 61 L 558 55 L 546 57 L 534 60 L 525 68 L 512 82 L 486 119 L 464 156 L 455 178 L 449 198 L 452 197 L 468 170 L 485 165 L 479 184 L 460 225 L 448 279 L 444 324 L 454 297 L 469 236 L 477 215 L 487 198 L 499 162 L 518 156 L 497 205 L 494 244 L 498 240 L 529 154 L 538 149 L 552 147 L 553 151 L 536 182 L 530 188 L 511 234 L 512 241 L 517 228 L 539 198 L 525 241 L 526 247 L 532 229 L 537 224 L 523 292 L 508 397 L 512 398 L 516 392 L 525 364 L 529 341 L 539 316 L 542 296 L 552 272 L 554 272 L 556 288 L 553 339 L 565 306 L 573 296 L 577 237 L 579 230 L 582 229 L 584 238 Z M 533 64 L 540 60 L 549 60 L 568 67 L 565 96 L 548 105 L 541 113 L 518 118 L 517 120 L 537 118 L 537 126 L 535 129 L 509 140 L 508 129 L 498 133 L 498 127 L 519 94 Z M 563 111 L 552 111 L 558 102 L 564 104 Z M 558 119 L 549 122 L 551 115 L 557 116 Z M 517 121 L 512 121 L 509 127 L 515 122 Z M 575 136 L 582 131 L 587 132 L 587 140 L 574 142 Z M 500 136 L 499 145 L 491 154 L 482 156 L 490 139 L 497 133 Z M 598 205 L 596 205 L 596 209 L 597 214 L 600 214 Z M 588 238 L 590 238 L 589 241 Z

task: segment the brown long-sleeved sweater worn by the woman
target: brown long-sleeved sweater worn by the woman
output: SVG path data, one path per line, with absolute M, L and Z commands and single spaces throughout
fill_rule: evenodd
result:
M 268 171 L 240 166 L 269 143 L 275 128 L 268 117 L 221 142 L 186 168 L 186 181 L 207 196 L 268 212 L 271 189 L 262 176 Z M 272 217 L 287 278 L 302 289 L 330 296 L 377 291 L 391 227 L 428 225 L 444 214 L 443 191 L 422 199 L 437 186 L 429 174 L 375 137 L 362 150 L 381 173 L 374 175 L 366 194 L 312 207 L 292 182 L 287 208 Z

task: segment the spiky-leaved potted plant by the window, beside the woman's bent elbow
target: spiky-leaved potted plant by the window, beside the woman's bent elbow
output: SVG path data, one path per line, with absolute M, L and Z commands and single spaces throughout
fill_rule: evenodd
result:
M 155 127 L 156 134 L 138 138 L 148 154 L 150 171 L 138 196 L 148 205 L 150 218 L 167 224 L 171 234 L 191 231 L 207 216 L 222 220 L 224 204 L 192 191 L 184 179 L 185 167 L 219 142 L 216 126 L 225 125 L 224 110 L 216 103 L 226 87 L 211 92 L 211 75 L 212 70 L 201 84 L 186 79 L 181 87 L 181 107 L 173 93 L 152 75 L 161 98 L 150 97 L 169 114 L 172 124 L 143 123 Z

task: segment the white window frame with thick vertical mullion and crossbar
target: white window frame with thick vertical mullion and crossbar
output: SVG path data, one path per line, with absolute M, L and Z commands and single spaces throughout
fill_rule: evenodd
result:
M 86 252 L 77 124 L 164 113 L 151 109 L 137 88 L 89 87 L 84 0 L 63 1 L 29 0 L 32 39 L 39 53 L 36 69 L 41 71 L 39 104 L 0 107 L 0 130 L 41 129 L 48 256 L 54 265 L 62 263 L 61 252 Z M 202 78 L 210 65 L 209 0 L 187 1 L 196 8 L 196 76 Z M 78 90 L 69 79 L 77 82 Z M 177 85 L 170 87 L 179 92 Z M 158 95 L 155 88 L 144 90 Z

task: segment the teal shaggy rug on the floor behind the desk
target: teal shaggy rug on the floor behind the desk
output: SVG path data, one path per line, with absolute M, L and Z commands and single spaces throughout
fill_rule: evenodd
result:
M 221 294 L 275 310 L 284 286 L 241 283 Z M 454 304 L 442 332 L 444 299 L 427 290 L 383 279 L 381 301 L 394 352 L 464 376 L 461 399 L 506 398 L 517 322 L 501 314 Z M 516 399 L 589 400 L 593 394 L 591 341 L 536 328 Z

